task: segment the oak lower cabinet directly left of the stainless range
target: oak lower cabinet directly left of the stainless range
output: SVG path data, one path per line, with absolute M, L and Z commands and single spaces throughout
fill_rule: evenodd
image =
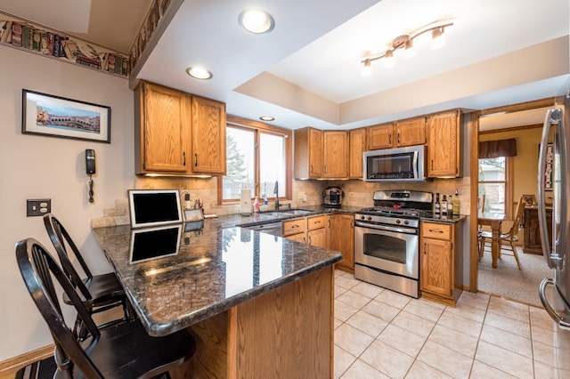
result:
M 339 270 L 354 273 L 354 214 L 329 215 L 328 248 L 343 254 Z

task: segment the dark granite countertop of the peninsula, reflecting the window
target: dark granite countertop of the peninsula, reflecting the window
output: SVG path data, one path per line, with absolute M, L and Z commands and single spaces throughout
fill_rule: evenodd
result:
M 233 226 L 240 220 L 237 214 L 191 222 L 186 230 L 171 226 L 182 231 L 174 243 L 170 234 L 160 237 L 164 242 L 155 236 L 135 245 L 144 235 L 135 238 L 142 230 L 128 225 L 93 232 L 150 335 L 189 327 L 342 259 L 338 252 Z M 148 259 L 159 251 L 167 255 Z

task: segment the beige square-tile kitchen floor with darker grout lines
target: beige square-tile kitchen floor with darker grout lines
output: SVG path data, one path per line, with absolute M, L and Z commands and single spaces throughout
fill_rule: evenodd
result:
M 570 332 L 545 310 L 469 292 L 452 308 L 335 280 L 335 378 L 570 378 Z

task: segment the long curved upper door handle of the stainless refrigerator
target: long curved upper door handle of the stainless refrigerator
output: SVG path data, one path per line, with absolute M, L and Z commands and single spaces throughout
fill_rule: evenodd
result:
M 546 112 L 546 117 L 544 118 L 544 125 L 542 127 L 542 139 L 541 139 L 541 149 L 539 151 L 538 158 L 538 224 L 541 230 L 541 236 L 548 236 L 550 233 L 547 228 L 546 223 L 546 194 L 544 193 L 544 175 L 546 174 L 546 150 L 550 135 L 550 119 L 554 109 L 549 109 Z M 552 236 L 554 238 L 554 236 Z M 541 238 L 542 242 L 542 256 L 544 261 L 550 269 L 554 268 L 552 261 L 550 260 L 550 244 L 549 238 Z M 552 241 L 554 245 L 555 241 Z

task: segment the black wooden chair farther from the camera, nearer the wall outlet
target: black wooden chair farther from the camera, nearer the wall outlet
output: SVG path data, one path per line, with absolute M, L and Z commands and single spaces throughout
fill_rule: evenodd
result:
M 69 233 L 61 222 L 53 214 L 44 215 L 45 230 L 52 241 L 53 247 L 60 259 L 61 268 L 67 275 L 71 284 L 75 287 L 89 314 L 101 313 L 116 307 L 122 307 L 123 312 L 120 318 L 112 318 L 100 325 L 100 327 L 111 327 L 115 324 L 136 319 L 133 307 L 126 298 L 125 290 L 118 281 L 114 272 L 94 275 L 87 266 L 85 259 L 79 252 L 77 245 L 69 236 Z M 83 270 L 79 274 L 76 267 L 71 262 L 69 255 L 77 260 L 78 266 Z M 82 278 L 83 276 L 83 278 Z M 67 294 L 63 294 L 63 302 L 71 304 Z M 109 319 L 109 318 L 108 318 Z M 81 320 L 77 318 L 75 328 L 81 328 Z M 78 335 L 82 333 L 78 332 Z

